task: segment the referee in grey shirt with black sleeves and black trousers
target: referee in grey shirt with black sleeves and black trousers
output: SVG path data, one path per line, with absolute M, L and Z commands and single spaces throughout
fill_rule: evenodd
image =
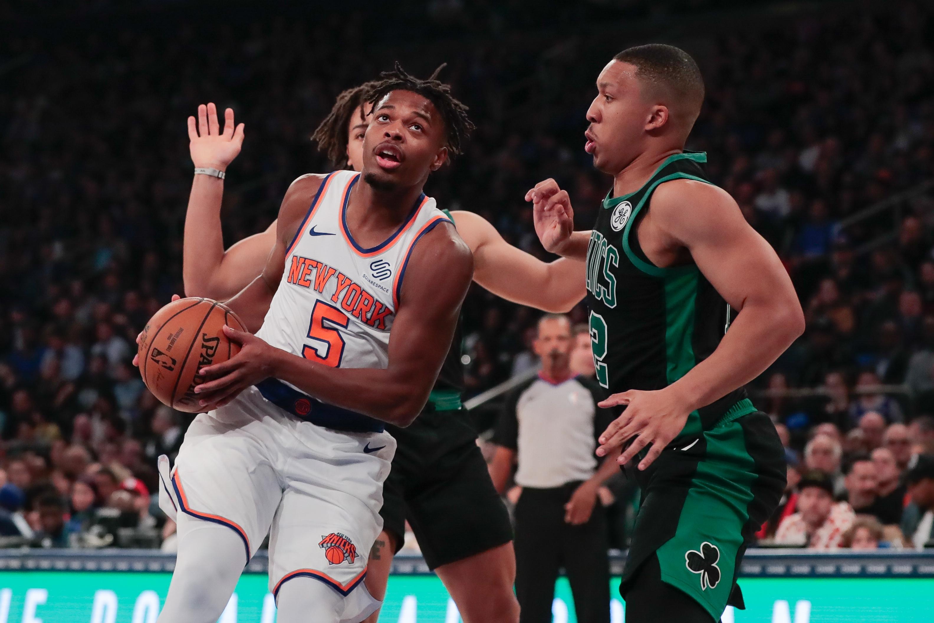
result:
M 533 348 L 542 370 L 507 396 L 493 436 L 490 475 L 502 493 L 517 463 L 516 595 L 520 623 L 550 623 L 559 569 L 573 592 L 577 620 L 609 623 L 607 527 L 597 490 L 616 474 L 616 457 L 594 451 L 613 415 L 597 406 L 600 387 L 570 368 L 567 317 L 544 316 Z

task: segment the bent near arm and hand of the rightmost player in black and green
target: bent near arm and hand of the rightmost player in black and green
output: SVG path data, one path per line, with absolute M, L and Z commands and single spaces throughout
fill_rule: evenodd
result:
M 674 180 L 660 186 L 651 201 L 646 219 L 672 246 L 690 251 L 703 276 L 739 314 L 713 354 L 672 385 L 625 391 L 601 403 L 629 406 L 601 435 L 598 454 L 638 435 L 618 461 L 627 462 L 651 444 L 640 469 L 681 432 L 692 411 L 762 374 L 804 332 L 804 314 L 785 267 L 726 191 Z

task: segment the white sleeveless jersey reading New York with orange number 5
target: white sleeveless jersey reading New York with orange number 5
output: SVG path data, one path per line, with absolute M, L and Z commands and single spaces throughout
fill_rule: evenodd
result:
M 422 194 L 395 234 L 362 248 L 346 220 L 359 179 L 354 171 L 335 171 L 321 183 L 257 335 L 333 367 L 385 368 L 405 265 L 418 238 L 450 219 Z

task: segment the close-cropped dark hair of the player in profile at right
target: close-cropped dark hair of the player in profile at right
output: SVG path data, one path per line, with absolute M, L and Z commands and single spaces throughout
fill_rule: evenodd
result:
M 704 94 L 701 68 L 685 50 L 649 43 L 623 50 L 613 58 L 635 66 L 639 78 L 672 92 L 679 101 L 686 100 L 700 111 Z

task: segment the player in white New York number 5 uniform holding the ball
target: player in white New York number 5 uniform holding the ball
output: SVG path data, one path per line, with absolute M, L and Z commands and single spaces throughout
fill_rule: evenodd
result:
M 293 182 L 262 275 L 228 302 L 257 333 L 225 328 L 240 353 L 201 371 L 195 391 L 214 410 L 192 423 L 167 487 L 179 545 L 160 621 L 217 620 L 270 529 L 280 623 L 360 621 L 379 605 L 362 579 L 395 449 L 382 424 L 406 426 L 427 401 L 473 274 L 421 192 L 460 150 L 465 108 L 436 81 L 389 77 L 362 173 Z M 192 196 L 227 163 L 195 162 Z

